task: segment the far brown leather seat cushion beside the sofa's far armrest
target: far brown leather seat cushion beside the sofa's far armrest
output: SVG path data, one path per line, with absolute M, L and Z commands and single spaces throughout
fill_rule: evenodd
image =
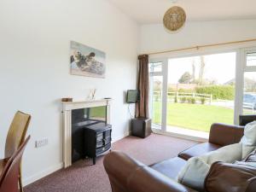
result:
M 191 157 L 197 157 L 202 154 L 215 151 L 221 147 L 222 146 L 220 145 L 216 145 L 212 143 L 200 143 L 179 153 L 178 157 L 182 158 L 183 160 L 189 160 Z

